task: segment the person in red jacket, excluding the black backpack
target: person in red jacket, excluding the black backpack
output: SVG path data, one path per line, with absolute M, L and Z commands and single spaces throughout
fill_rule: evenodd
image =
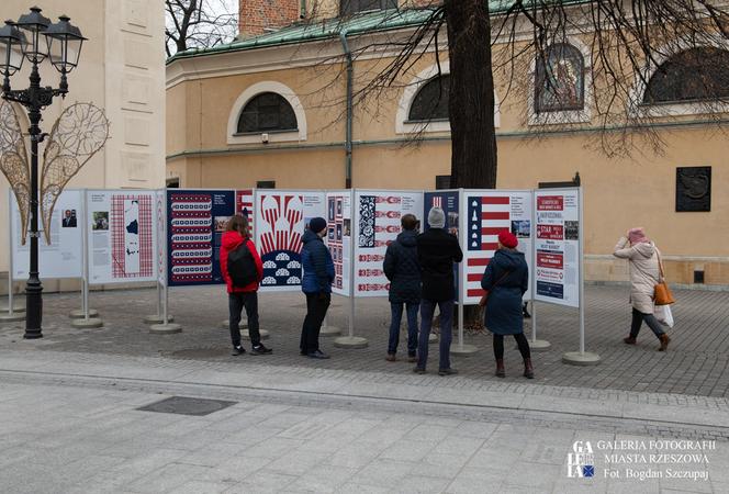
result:
M 244 243 L 256 263 L 258 279 L 246 287 L 234 287 L 227 269 L 228 254 L 237 249 Z M 263 279 L 263 263 L 256 250 L 256 246 L 250 240 L 248 234 L 248 220 L 239 214 L 231 217 L 227 222 L 226 231 L 223 234 L 223 240 L 221 244 L 221 272 L 227 284 L 233 355 L 242 355 L 246 352 L 240 345 L 240 328 L 238 327 L 238 324 L 240 324 L 240 312 L 243 311 L 243 307 L 246 307 L 246 315 L 248 316 L 248 334 L 250 335 L 250 343 L 253 344 L 250 355 L 271 353 L 272 350 L 266 348 L 263 344 L 260 343 L 260 333 L 258 330 L 258 283 Z

